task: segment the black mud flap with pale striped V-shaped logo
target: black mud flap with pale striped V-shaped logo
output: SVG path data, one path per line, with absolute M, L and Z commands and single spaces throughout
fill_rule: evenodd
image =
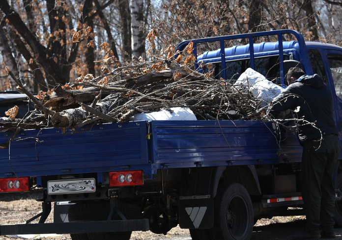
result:
M 179 226 L 208 229 L 214 225 L 214 199 L 211 195 L 180 196 Z

